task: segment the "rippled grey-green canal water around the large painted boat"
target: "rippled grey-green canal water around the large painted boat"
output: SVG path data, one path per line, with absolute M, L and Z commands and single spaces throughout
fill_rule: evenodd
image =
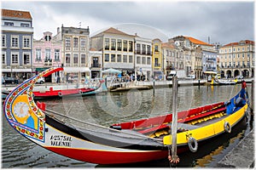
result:
M 247 84 L 250 95 L 251 85 Z M 225 101 L 241 89 L 235 86 L 186 86 L 178 88 L 178 111 L 188 110 L 201 105 Z M 64 113 L 109 127 L 116 122 L 127 122 L 140 118 L 165 115 L 172 111 L 172 88 L 154 88 L 151 90 L 130 90 L 126 92 L 101 93 L 92 96 L 44 99 L 47 109 Z M 57 155 L 33 144 L 16 133 L 2 114 L 2 168 L 31 167 L 170 167 L 166 159 L 129 165 L 102 166 L 76 161 Z M 69 121 L 69 120 L 64 120 Z M 211 139 L 199 145 L 196 153 L 187 152 L 178 155 L 177 167 L 216 167 L 220 161 L 253 128 L 253 116 L 243 119 L 231 133 L 225 133 L 218 139 Z M 252 150 L 253 151 L 253 150 Z

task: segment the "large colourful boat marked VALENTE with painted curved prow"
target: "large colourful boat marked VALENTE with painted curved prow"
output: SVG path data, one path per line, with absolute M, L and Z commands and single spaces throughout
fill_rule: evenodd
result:
M 43 77 L 52 69 L 38 75 Z M 35 103 L 32 88 L 38 77 L 21 83 L 3 104 L 11 127 L 32 142 L 62 156 L 97 164 L 120 164 L 166 158 L 172 145 L 172 114 L 103 127 L 46 109 Z M 230 133 L 247 115 L 243 82 L 235 97 L 177 113 L 177 153 L 196 152 L 201 142 Z M 63 122 L 58 116 L 75 122 Z M 203 143 L 202 143 L 203 144 Z M 21 147 L 21 146 L 20 146 Z

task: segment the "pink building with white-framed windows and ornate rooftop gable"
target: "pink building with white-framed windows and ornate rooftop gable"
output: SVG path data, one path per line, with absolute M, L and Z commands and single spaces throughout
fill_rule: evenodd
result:
M 62 42 L 55 40 L 52 33 L 44 32 L 40 40 L 33 40 L 33 71 L 41 72 L 50 67 L 61 67 Z M 46 77 L 45 82 L 55 82 L 60 72 Z

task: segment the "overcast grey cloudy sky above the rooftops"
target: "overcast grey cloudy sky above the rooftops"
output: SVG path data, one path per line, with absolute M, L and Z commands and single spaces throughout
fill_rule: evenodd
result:
M 112 26 L 162 41 L 179 35 L 221 44 L 254 40 L 254 1 L 2 1 L 2 8 L 29 11 L 35 39 L 81 22 L 90 35 Z

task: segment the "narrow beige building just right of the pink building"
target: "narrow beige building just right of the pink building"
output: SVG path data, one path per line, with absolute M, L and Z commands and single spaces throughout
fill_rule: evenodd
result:
M 62 42 L 61 61 L 64 68 L 61 78 L 64 82 L 72 79 L 73 82 L 83 82 L 90 77 L 90 30 L 61 26 L 57 28 L 55 41 Z

